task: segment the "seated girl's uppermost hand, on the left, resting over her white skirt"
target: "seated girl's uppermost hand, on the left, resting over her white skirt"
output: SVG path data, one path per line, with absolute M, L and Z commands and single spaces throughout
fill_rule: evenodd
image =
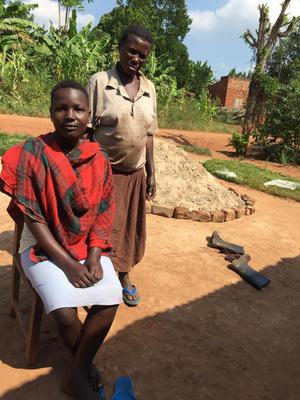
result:
M 88 270 L 87 266 L 75 260 L 64 266 L 63 271 L 76 288 L 87 288 L 97 283 L 97 279 Z

